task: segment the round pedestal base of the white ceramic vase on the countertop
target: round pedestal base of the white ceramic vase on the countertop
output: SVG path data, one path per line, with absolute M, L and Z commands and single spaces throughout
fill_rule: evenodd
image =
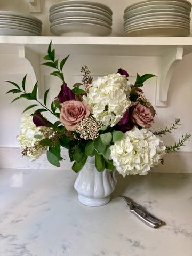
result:
M 110 199 L 110 195 L 104 198 L 91 198 L 78 194 L 78 201 L 86 206 L 102 206 L 108 204 Z

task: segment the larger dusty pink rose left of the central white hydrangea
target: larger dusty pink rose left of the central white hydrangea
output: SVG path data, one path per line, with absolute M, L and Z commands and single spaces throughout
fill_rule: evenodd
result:
M 89 117 L 91 107 L 81 101 L 69 100 L 61 104 L 60 122 L 68 131 L 74 131 L 77 123 Z

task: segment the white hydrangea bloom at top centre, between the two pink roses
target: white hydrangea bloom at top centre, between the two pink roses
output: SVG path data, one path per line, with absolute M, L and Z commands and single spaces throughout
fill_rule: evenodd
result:
M 130 106 L 130 83 L 119 73 L 99 77 L 93 81 L 83 100 L 91 106 L 93 116 L 103 125 L 117 124 Z

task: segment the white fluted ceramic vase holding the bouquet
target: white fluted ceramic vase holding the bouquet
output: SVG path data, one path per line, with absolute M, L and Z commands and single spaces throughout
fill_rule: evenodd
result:
M 98 172 L 94 157 L 88 157 L 76 178 L 74 187 L 79 202 L 87 206 L 101 206 L 109 203 L 116 183 L 115 171 L 105 169 L 103 172 Z

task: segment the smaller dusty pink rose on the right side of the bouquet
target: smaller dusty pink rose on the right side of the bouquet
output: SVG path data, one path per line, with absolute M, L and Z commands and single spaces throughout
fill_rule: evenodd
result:
M 154 123 L 154 113 L 141 104 L 137 104 L 132 112 L 131 121 L 141 127 L 149 128 Z

